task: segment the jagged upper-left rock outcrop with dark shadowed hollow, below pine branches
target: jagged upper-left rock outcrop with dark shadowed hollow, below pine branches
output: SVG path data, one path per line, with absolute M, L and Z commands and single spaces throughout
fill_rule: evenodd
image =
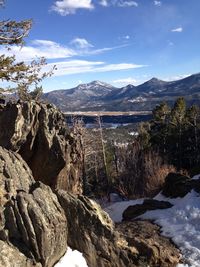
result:
M 35 180 L 52 188 L 82 192 L 81 144 L 53 105 L 7 103 L 0 110 L 0 146 L 18 152 Z

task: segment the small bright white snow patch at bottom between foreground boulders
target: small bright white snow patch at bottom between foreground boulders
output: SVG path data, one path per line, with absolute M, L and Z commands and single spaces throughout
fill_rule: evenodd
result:
M 68 247 L 65 255 L 54 267 L 88 267 L 82 253 Z

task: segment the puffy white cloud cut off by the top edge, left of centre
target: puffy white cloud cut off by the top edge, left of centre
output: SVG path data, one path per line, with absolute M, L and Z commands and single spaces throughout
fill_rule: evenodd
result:
M 66 16 L 75 14 L 77 9 L 91 10 L 93 8 L 92 0 L 60 0 L 55 1 L 51 10 L 57 12 L 61 16 Z

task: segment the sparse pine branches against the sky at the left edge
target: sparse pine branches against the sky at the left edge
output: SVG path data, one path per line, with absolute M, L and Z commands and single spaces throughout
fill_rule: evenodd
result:
M 1 0 L 0 6 L 3 5 L 4 1 Z M 23 46 L 24 38 L 27 37 L 31 26 L 31 20 L 0 21 L 0 45 L 6 46 L 8 50 L 12 45 Z M 16 62 L 15 56 L 0 55 L 0 80 L 8 82 L 6 88 L 0 88 L 0 97 L 2 98 L 3 94 L 8 91 L 16 91 L 22 100 L 38 99 L 42 92 L 39 83 L 45 77 L 52 75 L 55 68 L 50 72 L 42 73 L 45 64 L 44 58 L 25 64 L 24 62 Z M 31 88 L 32 94 L 30 94 Z

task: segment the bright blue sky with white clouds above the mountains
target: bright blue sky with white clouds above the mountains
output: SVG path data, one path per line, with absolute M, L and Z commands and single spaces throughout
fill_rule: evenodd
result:
M 100 80 L 116 87 L 152 77 L 176 80 L 200 72 L 199 0 L 6 0 L 0 19 L 33 19 L 22 48 L 45 57 L 45 92 Z

